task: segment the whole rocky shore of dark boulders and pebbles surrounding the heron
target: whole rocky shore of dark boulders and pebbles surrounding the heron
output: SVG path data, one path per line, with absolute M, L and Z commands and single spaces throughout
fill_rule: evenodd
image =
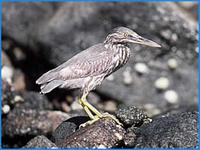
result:
M 3 3 L 2 9 L 3 147 L 197 146 L 197 3 Z M 35 80 L 118 26 L 162 48 L 132 45 L 127 65 L 88 97 L 123 127 L 101 119 L 79 129 L 88 120 L 79 92 L 40 95 Z

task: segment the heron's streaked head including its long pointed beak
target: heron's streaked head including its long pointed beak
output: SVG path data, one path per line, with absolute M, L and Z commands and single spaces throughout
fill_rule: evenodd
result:
M 150 47 L 161 47 L 159 44 L 138 35 L 136 32 L 126 27 L 115 28 L 114 31 L 107 36 L 105 42 L 136 43 Z

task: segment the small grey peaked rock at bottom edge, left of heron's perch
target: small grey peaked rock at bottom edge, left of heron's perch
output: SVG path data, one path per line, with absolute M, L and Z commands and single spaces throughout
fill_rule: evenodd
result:
M 58 148 L 53 142 L 43 135 L 36 136 L 23 148 Z

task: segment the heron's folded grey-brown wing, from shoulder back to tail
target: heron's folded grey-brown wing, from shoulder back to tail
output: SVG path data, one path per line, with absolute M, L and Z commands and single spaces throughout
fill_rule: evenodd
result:
M 105 72 L 112 60 L 112 54 L 103 44 L 94 45 L 67 62 L 43 74 L 37 84 L 45 84 L 53 80 L 68 80 L 99 75 Z

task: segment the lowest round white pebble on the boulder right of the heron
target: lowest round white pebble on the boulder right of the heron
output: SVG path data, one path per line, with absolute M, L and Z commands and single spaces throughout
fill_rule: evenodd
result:
M 168 90 L 164 94 L 165 99 L 170 104 L 178 103 L 178 94 L 173 90 Z

